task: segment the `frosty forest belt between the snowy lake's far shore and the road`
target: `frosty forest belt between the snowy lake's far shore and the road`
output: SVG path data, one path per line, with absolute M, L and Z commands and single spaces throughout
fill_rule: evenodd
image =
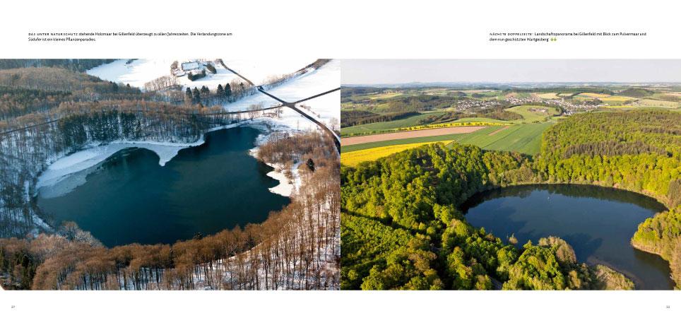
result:
M 23 236 L 34 227 L 30 196 L 35 180 L 57 158 L 88 143 L 162 141 L 192 143 L 206 129 L 232 124 L 247 114 L 220 107 L 158 102 L 64 102 L 51 112 L 0 122 L 0 236 Z M 28 128 L 26 128 L 28 127 Z

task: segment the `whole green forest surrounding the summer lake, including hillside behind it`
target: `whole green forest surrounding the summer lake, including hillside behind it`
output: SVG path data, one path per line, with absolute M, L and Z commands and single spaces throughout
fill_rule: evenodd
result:
M 631 289 L 612 269 L 577 263 L 557 237 L 514 247 L 470 226 L 459 206 L 485 189 L 540 182 L 619 187 L 674 206 L 680 125 L 677 112 L 591 112 L 548 129 L 535 157 L 434 144 L 342 167 L 342 288 Z M 665 220 L 653 228 L 673 246 L 680 222 Z

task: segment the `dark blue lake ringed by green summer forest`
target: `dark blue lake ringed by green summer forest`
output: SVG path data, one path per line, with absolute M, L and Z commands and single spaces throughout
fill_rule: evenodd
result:
M 630 242 L 641 223 L 667 209 L 640 192 L 533 182 L 477 192 L 458 208 L 475 228 L 502 238 L 515 235 L 521 245 L 528 240 L 536 244 L 540 237 L 561 237 L 574 247 L 579 261 L 608 266 L 634 281 L 637 289 L 673 286 L 668 261 Z M 643 211 L 649 214 L 640 214 Z

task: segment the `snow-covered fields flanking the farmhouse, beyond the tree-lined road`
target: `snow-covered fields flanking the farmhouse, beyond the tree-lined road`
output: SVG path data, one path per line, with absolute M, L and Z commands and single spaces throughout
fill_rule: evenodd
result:
M 144 83 L 161 76 L 170 75 L 170 64 L 173 61 L 182 63 L 182 61 L 189 60 L 191 59 L 136 59 L 130 64 L 126 64 L 128 59 L 119 59 L 109 64 L 97 66 L 86 73 L 106 81 L 144 88 Z M 304 66 L 314 62 L 314 60 L 246 61 L 223 59 L 223 62 L 230 69 L 239 72 L 256 85 L 259 85 L 273 76 L 282 76 L 302 69 Z M 201 86 L 206 86 L 211 90 L 215 90 L 215 88 L 218 88 L 218 84 L 225 86 L 226 83 L 230 83 L 233 79 L 238 78 L 238 76 L 227 71 L 220 64 L 215 64 L 215 70 L 218 72 L 215 74 L 206 73 L 206 77 L 199 78 L 196 81 L 189 81 L 189 78 L 186 76 L 178 77 L 177 81 L 184 88 L 201 88 Z

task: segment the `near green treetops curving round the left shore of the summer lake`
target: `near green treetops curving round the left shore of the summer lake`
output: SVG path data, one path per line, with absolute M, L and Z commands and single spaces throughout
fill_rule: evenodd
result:
M 476 192 L 538 182 L 530 165 L 528 158 L 517 154 L 434 144 L 357 168 L 343 167 L 342 288 L 596 289 L 608 285 L 595 268 L 564 259 L 564 254 L 574 254 L 565 242 L 555 247 L 542 241 L 517 249 L 463 218 L 458 206 Z M 533 265 L 538 258 L 546 266 Z M 619 274 L 615 277 L 624 281 Z

